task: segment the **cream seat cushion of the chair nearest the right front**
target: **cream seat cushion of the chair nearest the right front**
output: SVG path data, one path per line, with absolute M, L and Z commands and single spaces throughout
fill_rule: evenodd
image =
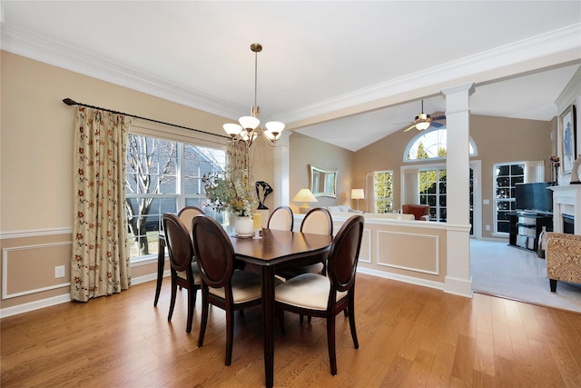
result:
M 277 302 L 310 310 L 327 310 L 330 280 L 321 274 L 301 274 L 279 285 L 274 290 Z M 337 301 L 347 292 L 337 293 Z

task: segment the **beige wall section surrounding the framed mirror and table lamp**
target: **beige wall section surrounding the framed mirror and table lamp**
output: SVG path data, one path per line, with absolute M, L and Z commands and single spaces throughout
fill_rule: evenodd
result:
M 355 201 L 351 201 L 351 188 L 356 188 L 351 180 L 353 153 L 335 145 L 320 142 L 312 137 L 299 133 L 291 134 L 290 140 L 290 199 L 293 212 L 298 212 L 298 206 L 292 202 L 292 197 L 301 188 L 310 187 L 310 164 L 324 170 L 338 169 L 337 174 L 337 198 L 327 196 L 318 197 L 319 203 L 310 204 L 312 207 L 329 206 L 334 204 L 350 204 L 356 207 Z M 363 188 L 364 186 L 360 186 Z

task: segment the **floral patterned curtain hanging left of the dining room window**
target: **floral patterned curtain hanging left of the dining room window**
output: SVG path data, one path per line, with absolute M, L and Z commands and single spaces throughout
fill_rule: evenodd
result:
M 131 286 L 125 201 L 123 114 L 79 106 L 74 141 L 71 298 L 120 293 Z

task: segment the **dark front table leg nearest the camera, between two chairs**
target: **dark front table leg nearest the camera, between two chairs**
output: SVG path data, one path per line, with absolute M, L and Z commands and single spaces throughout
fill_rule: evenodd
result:
M 264 336 L 264 374 L 266 387 L 274 383 L 274 269 L 262 267 L 262 333 Z

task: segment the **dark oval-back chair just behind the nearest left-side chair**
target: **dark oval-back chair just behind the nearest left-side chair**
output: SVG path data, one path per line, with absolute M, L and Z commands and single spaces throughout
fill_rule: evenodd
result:
M 170 254 L 170 273 L 172 276 L 172 300 L 167 320 L 172 321 L 175 297 L 179 285 L 188 290 L 188 320 L 185 331 L 191 333 L 196 293 L 202 284 L 198 265 L 193 261 L 192 237 L 190 237 L 186 226 L 175 214 L 162 214 L 162 225 L 165 244 Z

